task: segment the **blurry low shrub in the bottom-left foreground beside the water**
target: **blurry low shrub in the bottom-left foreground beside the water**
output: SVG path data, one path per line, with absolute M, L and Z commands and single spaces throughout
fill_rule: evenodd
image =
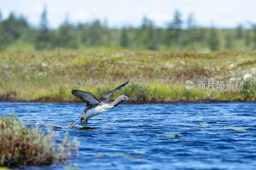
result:
M 76 140 L 70 142 L 66 136 L 58 144 L 57 133 L 49 130 L 44 134 L 37 128 L 29 128 L 15 115 L 0 116 L 0 136 L 0 169 L 63 163 L 78 152 Z

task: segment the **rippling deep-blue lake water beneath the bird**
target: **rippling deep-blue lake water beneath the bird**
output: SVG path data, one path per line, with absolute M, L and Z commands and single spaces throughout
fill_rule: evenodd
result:
M 0 106 L 25 124 L 76 137 L 79 155 L 68 165 L 81 169 L 256 169 L 256 103 L 120 104 L 90 118 L 89 130 L 79 130 L 80 121 L 68 129 L 84 103 Z M 41 168 L 65 169 L 27 167 Z

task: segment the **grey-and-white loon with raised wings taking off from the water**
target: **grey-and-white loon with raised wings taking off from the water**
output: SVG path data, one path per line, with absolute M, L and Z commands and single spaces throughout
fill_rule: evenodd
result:
M 117 105 L 119 105 L 124 100 L 126 100 L 126 103 L 128 102 L 128 100 L 133 100 L 132 98 L 129 98 L 125 95 L 121 95 L 121 96 L 117 97 L 116 100 L 114 100 L 113 102 L 108 101 L 110 96 L 114 92 L 116 92 L 117 90 L 124 87 L 128 82 L 129 81 L 127 81 L 126 83 L 124 83 L 122 85 L 119 85 L 114 90 L 111 90 L 109 92 L 107 92 L 107 91 L 103 92 L 100 95 L 99 100 L 97 100 L 90 92 L 84 92 L 81 90 L 72 89 L 71 94 L 73 94 L 76 97 L 79 97 L 79 99 L 81 99 L 83 102 L 86 103 L 86 105 L 85 105 L 86 108 L 84 109 L 84 111 L 83 111 L 82 115 L 80 116 L 80 118 L 78 119 L 78 121 L 81 120 L 81 124 L 85 126 L 87 124 L 89 118 L 115 108 Z M 78 121 L 76 121 L 74 124 L 69 126 L 69 128 L 73 128 Z

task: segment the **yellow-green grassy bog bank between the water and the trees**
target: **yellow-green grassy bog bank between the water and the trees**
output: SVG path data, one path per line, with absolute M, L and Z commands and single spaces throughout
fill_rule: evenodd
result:
M 255 77 L 244 89 L 186 90 L 185 81 L 228 81 L 255 74 L 255 51 L 214 53 L 141 50 L 5 51 L 0 53 L 0 99 L 39 102 L 80 102 L 71 89 L 92 92 L 99 98 L 129 80 L 114 93 L 132 102 L 188 100 L 255 101 Z M 251 84 L 251 85 L 250 85 Z

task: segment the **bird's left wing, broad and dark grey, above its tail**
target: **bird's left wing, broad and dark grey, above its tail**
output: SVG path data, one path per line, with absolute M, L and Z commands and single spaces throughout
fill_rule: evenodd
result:
M 90 106 L 90 105 L 93 105 L 93 104 L 99 104 L 100 103 L 100 101 L 97 100 L 92 95 L 92 93 L 90 93 L 90 92 L 84 92 L 84 91 L 81 91 L 81 90 L 72 89 L 71 94 L 73 94 L 76 97 L 79 97 L 79 99 L 81 99 L 83 102 L 85 102 L 86 103 L 85 106 Z

